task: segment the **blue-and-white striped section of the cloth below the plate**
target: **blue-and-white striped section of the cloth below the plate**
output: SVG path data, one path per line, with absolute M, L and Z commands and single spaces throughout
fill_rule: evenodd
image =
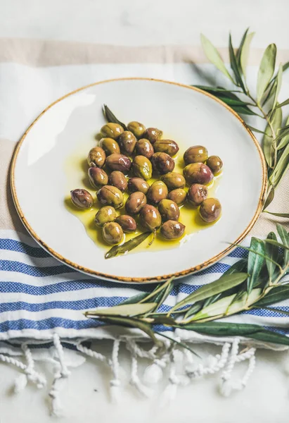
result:
M 100 324 L 86 319 L 85 310 L 117 305 L 131 295 L 153 289 L 152 286 L 120 285 L 80 274 L 53 259 L 28 235 L 15 231 L 9 231 L 9 235 L 9 238 L 0 238 L 0 339 L 19 336 L 41 339 L 41 332 L 47 339 L 47 333 L 56 328 L 61 329 L 63 337 L 70 337 L 72 329 L 74 336 L 88 337 Z M 13 252 L 13 260 L 7 259 L 7 252 Z M 247 254 L 238 247 L 221 262 L 182 278 L 161 311 L 168 311 L 176 301 L 214 281 Z M 278 308 L 289 312 L 289 304 L 284 302 Z M 288 317 L 274 310 L 253 309 L 241 314 L 240 321 L 273 326 L 288 333 L 285 328 Z M 157 329 L 165 330 L 162 326 Z

